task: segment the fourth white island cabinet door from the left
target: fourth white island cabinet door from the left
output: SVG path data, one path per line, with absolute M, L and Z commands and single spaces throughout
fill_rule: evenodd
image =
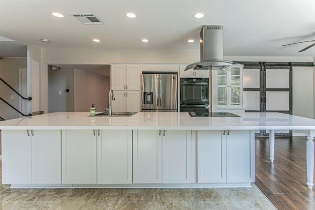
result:
M 131 184 L 132 130 L 99 132 L 97 132 L 97 183 Z

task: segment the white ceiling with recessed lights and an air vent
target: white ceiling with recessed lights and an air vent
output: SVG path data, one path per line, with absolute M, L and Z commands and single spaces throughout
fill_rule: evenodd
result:
M 199 11 L 206 17 L 192 18 Z M 69 13 L 94 13 L 105 25 Z M 202 25 L 223 25 L 225 56 L 315 56 L 315 47 L 298 53 L 315 42 L 281 46 L 315 40 L 315 0 L 0 0 L 0 35 L 43 48 L 199 49 Z

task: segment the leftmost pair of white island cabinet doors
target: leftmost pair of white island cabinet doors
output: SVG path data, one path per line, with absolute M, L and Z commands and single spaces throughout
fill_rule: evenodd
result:
M 60 184 L 60 130 L 3 130 L 2 183 Z

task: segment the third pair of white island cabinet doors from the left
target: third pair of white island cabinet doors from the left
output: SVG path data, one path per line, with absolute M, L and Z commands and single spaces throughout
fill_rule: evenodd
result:
M 191 183 L 190 130 L 136 130 L 133 183 Z

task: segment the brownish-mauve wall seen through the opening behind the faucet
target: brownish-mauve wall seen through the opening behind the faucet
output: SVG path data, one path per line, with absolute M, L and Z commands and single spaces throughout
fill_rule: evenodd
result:
M 95 103 L 96 112 L 108 108 L 110 78 L 74 69 L 74 111 L 89 112 Z

